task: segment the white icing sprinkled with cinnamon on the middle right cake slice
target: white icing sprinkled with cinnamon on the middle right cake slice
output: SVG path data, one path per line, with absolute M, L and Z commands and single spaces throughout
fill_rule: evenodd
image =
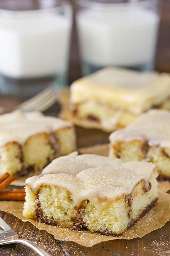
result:
M 146 140 L 150 146 L 170 147 L 170 112 L 149 110 L 126 128 L 111 133 L 109 139 L 111 143 Z

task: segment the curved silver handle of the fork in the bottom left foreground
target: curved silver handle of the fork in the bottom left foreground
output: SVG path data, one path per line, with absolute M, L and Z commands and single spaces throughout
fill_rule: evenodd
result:
M 5 241 L 3 244 L 8 244 L 8 243 L 22 243 L 24 245 L 27 245 L 31 249 L 33 249 L 40 256 L 50 256 L 49 253 L 41 249 L 41 247 L 39 247 L 37 244 L 32 243 L 31 241 L 26 239 L 18 238 L 18 239 L 8 240 L 8 241 Z

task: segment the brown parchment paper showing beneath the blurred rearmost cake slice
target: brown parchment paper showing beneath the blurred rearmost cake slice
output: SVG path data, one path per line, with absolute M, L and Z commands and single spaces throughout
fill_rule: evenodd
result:
M 69 108 L 69 98 L 70 98 L 70 90 L 69 88 L 67 89 L 62 89 L 60 92 L 60 97 L 59 97 L 59 103 L 61 104 L 61 112 L 59 113 L 59 117 L 66 119 L 67 121 L 78 125 L 82 126 L 85 128 L 95 128 L 95 129 L 100 129 L 105 132 L 112 132 L 112 129 L 107 129 L 103 126 L 101 126 L 97 122 L 93 121 L 88 121 L 88 120 L 80 120 L 76 116 L 72 115 L 70 108 Z

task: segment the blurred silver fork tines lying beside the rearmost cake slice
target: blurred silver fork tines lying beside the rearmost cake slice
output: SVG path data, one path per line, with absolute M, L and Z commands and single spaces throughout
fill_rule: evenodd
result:
M 26 100 L 16 108 L 24 111 L 45 111 L 50 108 L 59 99 L 59 89 L 48 87 L 36 96 Z

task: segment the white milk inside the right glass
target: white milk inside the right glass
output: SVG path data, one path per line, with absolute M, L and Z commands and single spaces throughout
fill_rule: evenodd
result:
M 149 10 L 81 11 L 77 27 L 82 59 L 96 66 L 152 62 L 158 23 Z

